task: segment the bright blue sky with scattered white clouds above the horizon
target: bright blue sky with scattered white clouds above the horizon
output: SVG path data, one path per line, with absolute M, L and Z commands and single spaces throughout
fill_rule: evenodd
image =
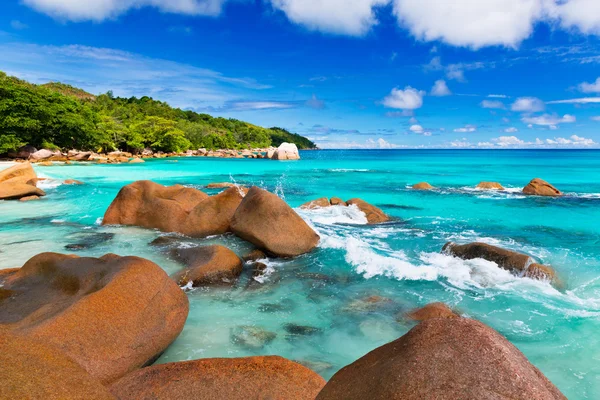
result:
M 321 148 L 600 148 L 599 0 L 2 0 L 0 70 Z

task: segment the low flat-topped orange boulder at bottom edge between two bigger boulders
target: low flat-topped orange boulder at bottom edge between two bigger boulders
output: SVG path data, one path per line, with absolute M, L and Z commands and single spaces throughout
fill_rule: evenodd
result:
M 278 356 L 207 358 L 154 365 L 110 387 L 127 400 L 314 400 L 325 380 Z

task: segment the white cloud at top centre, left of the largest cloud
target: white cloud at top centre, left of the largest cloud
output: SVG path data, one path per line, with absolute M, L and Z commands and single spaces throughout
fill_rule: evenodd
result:
M 377 24 L 374 8 L 390 0 L 270 0 L 290 21 L 308 29 L 361 36 Z

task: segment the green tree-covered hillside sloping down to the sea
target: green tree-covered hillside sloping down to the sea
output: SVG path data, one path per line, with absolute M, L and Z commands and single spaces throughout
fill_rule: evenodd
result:
M 0 154 L 23 146 L 108 152 L 245 149 L 295 143 L 316 148 L 282 128 L 213 118 L 150 97 L 94 96 L 63 83 L 34 85 L 0 72 Z

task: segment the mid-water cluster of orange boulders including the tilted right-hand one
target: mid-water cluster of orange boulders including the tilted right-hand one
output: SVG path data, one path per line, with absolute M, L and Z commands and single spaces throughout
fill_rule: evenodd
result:
M 293 257 L 311 251 L 319 236 L 276 195 L 231 187 L 215 196 L 181 185 L 138 181 L 121 189 L 102 222 L 206 237 L 233 232 L 266 250 Z

